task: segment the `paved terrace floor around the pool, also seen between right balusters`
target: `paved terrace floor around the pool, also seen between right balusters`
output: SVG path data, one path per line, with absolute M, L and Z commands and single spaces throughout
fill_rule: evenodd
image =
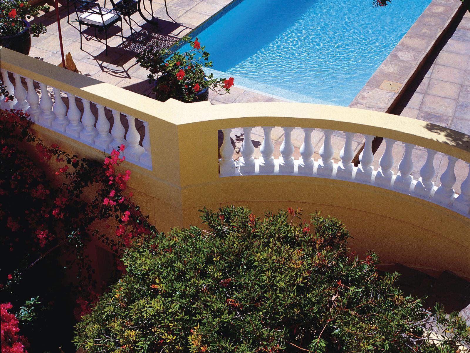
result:
M 170 47 L 179 38 L 191 32 L 198 25 L 204 23 L 211 16 L 227 6 L 232 0 L 167 0 L 167 16 L 164 10 L 164 0 L 154 0 L 154 6 L 158 8 L 156 15 L 159 26 L 147 24 L 139 14 L 134 14 L 132 27 L 135 31 L 131 36 L 129 24 L 123 23 L 124 44 L 122 43 L 118 27 L 108 40 L 109 55 L 105 56 L 104 35 L 98 34 L 100 40 L 94 38 L 92 29 L 85 30 L 86 38 L 83 38 L 83 51 L 80 50 L 80 34 L 78 24 L 73 21 L 76 17 L 71 5 L 70 24 L 67 23 L 67 7 L 65 0 L 60 0 L 60 18 L 63 34 L 65 53 L 71 52 L 77 64 L 78 70 L 85 75 L 97 80 L 108 82 L 133 92 L 148 94 L 151 90 L 147 78 L 147 72 L 135 62 L 135 55 L 143 48 Z M 103 5 L 104 0 L 98 0 Z M 48 0 L 51 11 L 40 16 L 37 20 L 47 25 L 47 34 L 32 39 L 30 56 L 37 57 L 51 64 L 61 62 L 60 47 L 55 23 L 55 10 L 53 2 Z M 155 4 L 156 3 L 156 4 Z M 398 6 L 398 5 L 397 5 Z M 421 75 L 415 80 L 412 88 L 408 89 L 399 102 L 394 113 L 407 116 L 412 119 L 420 119 L 437 123 L 444 127 L 454 128 L 470 134 L 470 13 L 466 12 L 459 19 L 458 26 L 451 28 L 446 38 L 441 42 L 441 47 L 435 51 L 434 56 L 428 60 Z M 127 21 L 127 19 L 125 19 Z M 202 43 L 204 45 L 204 43 Z M 210 49 L 208 48 L 209 52 Z M 279 102 L 281 100 L 271 96 L 262 95 L 239 87 L 233 87 L 231 93 L 220 96 L 210 93 L 212 104 L 244 103 L 244 102 Z M 241 129 L 235 129 L 235 134 L 241 133 Z M 253 130 L 253 140 L 262 141 L 263 131 L 260 128 Z M 279 148 L 283 141 L 281 128 L 274 128 L 272 133 L 275 148 L 274 155 L 279 156 Z M 300 146 L 303 142 L 303 131 L 296 128 L 292 133 L 295 147 L 294 157 L 300 157 Z M 358 151 L 362 145 L 363 137 L 357 134 L 354 139 L 354 149 Z M 314 131 L 313 144 L 316 160 L 320 156 L 318 152 L 323 143 L 321 131 Z M 335 132 L 332 138 L 335 148 L 333 159 L 339 160 L 339 151 L 344 145 L 344 133 Z M 384 151 L 384 144 L 379 148 L 378 155 Z M 398 172 L 398 163 L 404 154 L 404 145 L 397 143 L 393 150 L 395 166 L 393 170 Z M 426 158 L 424 149 L 417 147 L 414 151 L 420 163 L 417 163 L 413 175 L 419 177 L 419 168 Z M 259 148 L 254 156 L 259 156 Z M 235 158 L 240 155 L 235 155 Z M 435 168 L 437 174 L 434 178 L 436 185 L 440 185 L 439 177 L 444 172 L 447 161 L 442 155 L 437 155 Z M 419 166 L 419 167 L 418 167 Z M 378 161 L 374 167 L 378 168 Z M 468 172 L 468 167 L 461 160 L 457 163 L 456 174 L 463 180 Z M 457 185 L 457 192 L 460 187 Z

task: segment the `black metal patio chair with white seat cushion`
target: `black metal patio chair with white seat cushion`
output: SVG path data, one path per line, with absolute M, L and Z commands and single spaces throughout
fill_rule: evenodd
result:
M 114 1 L 110 0 L 113 8 L 103 8 L 100 4 L 87 0 L 72 0 L 77 14 L 78 25 L 80 26 L 80 49 L 82 48 L 82 25 L 87 28 L 94 28 L 94 35 L 96 39 L 96 29 L 104 31 L 104 38 L 106 42 L 106 56 L 108 56 L 108 29 L 118 22 L 121 23 L 121 38 L 124 43 L 124 35 L 122 32 L 122 17 L 119 11 L 116 10 Z

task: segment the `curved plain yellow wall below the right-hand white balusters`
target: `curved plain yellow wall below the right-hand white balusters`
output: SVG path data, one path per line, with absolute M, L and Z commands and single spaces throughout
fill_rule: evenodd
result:
M 429 201 L 371 185 L 307 176 L 234 176 L 185 189 L 183 199 L 204 199 L 212 209 L 233 204 L 262 216 L 267 210 L 301 207 L 345 223 L 350 246 L 374 250 L 384 264 L 450 270 L 470 277 L 470 219 Z M 210 197 L 208 197 L 210 195 Z M 218 202 L 219 201 L 219 202 Z M 199 225 L 197 210 L 183 211 L 183 225 Z

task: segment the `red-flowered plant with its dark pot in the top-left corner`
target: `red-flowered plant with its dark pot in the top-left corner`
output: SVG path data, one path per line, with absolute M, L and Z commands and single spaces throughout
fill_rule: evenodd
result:
M 27 22 L 31 16 L 37 16 L 39 10 L 49 12 L 49 6 L 32 7 L 26 0 L 0 1 L 0 45 L 28 55 L 31 36 L 39 37 L 47 31 L 43 23 Z

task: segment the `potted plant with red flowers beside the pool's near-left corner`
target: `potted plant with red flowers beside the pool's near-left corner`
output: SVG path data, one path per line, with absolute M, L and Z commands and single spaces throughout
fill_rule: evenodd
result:
M 182 41 L 191 46 L 184 53 L 163 48 L 156 51 L 146 49 L 137 55 L 137 62 L 150 72 L 149 80 L 154 84 L 155 98 L 162 102 L 175 98 L 190 103 L 207 100 L 209 88 L 218 94 L 229 93 L 234 84 L 233 77 L 217 79 L 212 73 L 206 75 L 203 67 L 211 67 L 212 62 L 205 47 L 201 47 L 197 38 L 192 41 L 191 37 L 186 36 Z

